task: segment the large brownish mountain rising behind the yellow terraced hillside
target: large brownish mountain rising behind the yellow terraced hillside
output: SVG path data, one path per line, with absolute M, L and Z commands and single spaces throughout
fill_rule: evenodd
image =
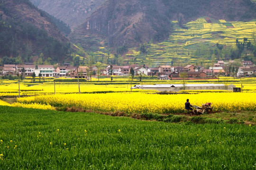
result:
M 250 0 L 107 0 L 69 38 L 86 49 L 104 45 L 125 51 L 167 39 L 173 20 L 183 26 L 202 16 L 248 21 L 256 18 L 256 5 Z

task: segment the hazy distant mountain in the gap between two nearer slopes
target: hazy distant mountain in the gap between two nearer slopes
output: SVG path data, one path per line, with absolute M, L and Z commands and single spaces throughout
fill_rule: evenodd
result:
M 30 0 L 57 19 L 64 21 L 72 29 L 83 23 L 105 0 Z

